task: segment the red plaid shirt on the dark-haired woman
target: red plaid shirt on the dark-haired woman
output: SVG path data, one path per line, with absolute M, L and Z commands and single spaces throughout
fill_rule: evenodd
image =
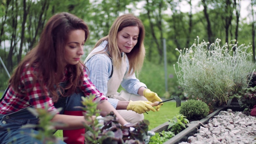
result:
M 28 64 L 27 64 L 28 65 Z M 26 66 L 27 66 L 26 65 Z M 26 93 L 26 95 L 20 95 L 14 91 L 13 87 L 10 86 L 6 95 L 4 95 L 3 100 L 0 102 L 0 114 L 6 115 L 12 112 L 17 112 L 20 109 L 24 109 L 32 105 L 34 108 L 45 108 L 48 107 L 48 111 L 57 111 L 53 106 L 52 98 L 49 95 L 49 92 L 46 94 L 43 93 L 43 90 L 38 81 L 33 84 L 33 76 L 31 72 L 36 72 L 36 69 L 31 66 L 30 69 L 23 69 L 23 73 L 20 75 L 20 86 L 19 92 Z M 65 76 L 63 81 L 67 80 L 67 69 L 65 71 Z M 46 85 L 45 85 L 46 88 Z M 47 88 L 46 88 L 47 89 Z M 90 93 L 96 95 L 96 98 L 100 100 L 105 100 L 107 97 L 103 96 L 96 87 L 92 84 L 88 78 L 87 72 L 84 69 L 84 80 L 81 90 L 84 92 L 84 95 L 89 96 Z

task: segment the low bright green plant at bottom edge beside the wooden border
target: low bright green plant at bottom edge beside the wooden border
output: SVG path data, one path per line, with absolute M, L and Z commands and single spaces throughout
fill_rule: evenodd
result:
M 154 136 L 151 136 L 149 144 L 163 144 L 173 136 L 175 136 L 175 134 L 171 131 L 156 132 Z

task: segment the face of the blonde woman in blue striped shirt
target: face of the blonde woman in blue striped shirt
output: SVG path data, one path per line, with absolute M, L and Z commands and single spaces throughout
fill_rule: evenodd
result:
M 128 26 L 117 33 L 117 45 L 120 52 L 129 53 L 138 42 L 140 29 L 138 26 Z

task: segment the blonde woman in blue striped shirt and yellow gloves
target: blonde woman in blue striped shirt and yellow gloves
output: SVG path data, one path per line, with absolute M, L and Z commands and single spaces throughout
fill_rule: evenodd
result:
M 96 88 L 108 96 L 108 101 L 126 121 L 134 124 L 144 119 L 143 112 L 155 111 L 151 102 L 162 101 L 134 74 L 143 65 L 144 37 L 141 20 L 133 14 L 124 14 L 116 18 L 109 34 L 96 43 L 84 61 Z M 121 93 L 117 92 L 120 84 L 125 89 Z M 157 111 L 161 105 L 156 106 Z

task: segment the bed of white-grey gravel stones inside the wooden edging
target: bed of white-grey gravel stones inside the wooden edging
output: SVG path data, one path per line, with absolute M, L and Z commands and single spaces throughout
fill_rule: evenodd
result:
M 256 117 L 232 109 L 221 111 L 179 144 L 256 144 Z

